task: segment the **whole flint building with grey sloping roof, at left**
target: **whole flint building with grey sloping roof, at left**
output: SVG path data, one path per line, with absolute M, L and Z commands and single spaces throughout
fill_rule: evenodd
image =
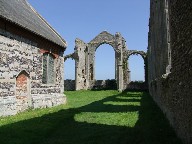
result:
M 26 0 L 0 0 L 0 116 L 66 102 L 66 42 Z

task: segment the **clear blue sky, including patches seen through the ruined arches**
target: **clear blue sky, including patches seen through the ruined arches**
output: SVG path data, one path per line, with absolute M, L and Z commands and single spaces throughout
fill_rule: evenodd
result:
M 65 55 L 72 53 L 75 39 L 88 43 L 100 32 L 120 32 L 128 49 L 147 51 L 149 0 L 28 0 L 67 41 Z M 114 79 L 114 50 L 101 45 L 96 51 L 96 79 Z M 129 58 L 132 80 L 144 80 L 140 56 Z M 65 62 L 65 79 L 74 79 L 75 62 Z

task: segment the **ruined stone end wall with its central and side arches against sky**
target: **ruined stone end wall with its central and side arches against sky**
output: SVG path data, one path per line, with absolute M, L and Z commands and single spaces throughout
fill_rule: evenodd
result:
M 89 43 L 80 39 L 75 40 L 75 52 L 65 56 L 65 60 L 72 58 L 75 63 L 76 90 L 93 89 L 96 87 L 95 80 L 95 52 L 102 44 L 109 44 L 115 51 L 115 79 L 117 89 L 123 91 L 127 88 L 130 80 L 128 58 L 132 54 L 139 54 L 146 61 L 146 53 L 143 51 L 128 50 L 125 39 L 120 33 L 112 35 L 106 31 L 101 32 Z

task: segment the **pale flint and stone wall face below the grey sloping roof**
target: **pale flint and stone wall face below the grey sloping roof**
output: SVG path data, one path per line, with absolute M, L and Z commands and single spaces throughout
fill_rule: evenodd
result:
M 42 84 L 42 55 L 38 43 L 0 29 L 0 116 L 14 115 L 27 107 L 45 108 L 65 103 L 63 57 L 57 54 L 55 84 L 47 85 Z M 22 72 L 29 76 L 23 88 L 19 86 L 23 78 L 18 77 Z M 24 95 L 18 97 L 17 87 L 27 88 L 28 92 L 20 90 Z M 23 100 L 28 106 L 21 108 Z

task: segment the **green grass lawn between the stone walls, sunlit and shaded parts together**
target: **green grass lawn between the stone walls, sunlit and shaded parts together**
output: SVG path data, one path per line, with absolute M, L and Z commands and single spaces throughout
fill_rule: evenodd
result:
M 181 144 L 148 93 L 65 94 L 66 105 L 0 118 L 0 144 Z

